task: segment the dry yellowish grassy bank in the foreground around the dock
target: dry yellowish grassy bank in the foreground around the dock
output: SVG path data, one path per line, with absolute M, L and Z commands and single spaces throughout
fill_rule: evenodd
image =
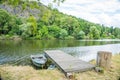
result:
M 67 80 L 59 70 L 36 70 L 30 66 L 1 65 L 3 80 Z M 75 80 L 120 80 L 120 55 L 112 57 L 111 69 L 104 73 L 94 70 L 74 74 Z

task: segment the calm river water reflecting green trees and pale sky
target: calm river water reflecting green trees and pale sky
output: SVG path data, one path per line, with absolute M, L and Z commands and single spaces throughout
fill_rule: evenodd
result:
M 89 61 L 96 59 L 97 51 L 120 53 L 120 40 L 0 40 L 0 64 L 29 65 L 31 54 L 56 49 Z

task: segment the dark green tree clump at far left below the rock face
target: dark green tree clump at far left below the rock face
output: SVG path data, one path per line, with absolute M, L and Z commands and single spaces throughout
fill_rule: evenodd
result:
M 0 33 L 1 34 L 10 34 L 18 35 L 19 26 L 22 24 L 20 18 L 16 18 L 8 14 L 8 12 L 0 9 Z

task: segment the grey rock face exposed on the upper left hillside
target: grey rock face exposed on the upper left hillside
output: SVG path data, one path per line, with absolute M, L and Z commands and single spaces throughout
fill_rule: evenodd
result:
M 39 6 L 41 5 L 39 4 Z M 13 7 L 7 4 L 0 4 L 0 8 L 6 10 L 7 12 L 13 15 L 23 18 L 28 18 L 30 15 L 33 15 L 34 17 L 38 18 L 40 14 L 40 9 L 31 9 L 30 7 L 26 7 L 26 9 L 23 10 L 21 5 Z

